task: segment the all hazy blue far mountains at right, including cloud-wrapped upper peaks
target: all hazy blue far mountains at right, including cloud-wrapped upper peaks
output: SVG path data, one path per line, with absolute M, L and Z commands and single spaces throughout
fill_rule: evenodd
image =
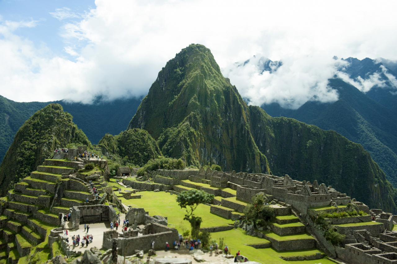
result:
M 361 92 L 342 79 L 330 79 L 329 85 L 339 93 L 339 100 L 321 103 L 309 100 L 297 110 L 278 103 L 261 106 L 270 116 L 294 118 L 324 130 L 335 130 L 347 139 L 360 143 L 397 187 L 397 64 L 385 59 L 347 58 L 340 69 L 357 82 L 376 77 L 378 85 Z

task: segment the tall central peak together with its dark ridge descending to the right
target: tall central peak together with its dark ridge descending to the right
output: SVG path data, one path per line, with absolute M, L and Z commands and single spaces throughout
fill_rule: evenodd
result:
M 225 171 L 317 179 L 371 208 L 397 212 L 385 174 L 361 145 L 335 131 L 247 106 L 210 50 L 192 44 L 158 73 L 129 128 L 148 131 L 162 154 Z

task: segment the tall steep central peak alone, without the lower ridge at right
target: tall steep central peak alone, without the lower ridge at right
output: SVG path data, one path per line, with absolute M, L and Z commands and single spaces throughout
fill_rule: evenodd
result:
M 255 145 L 245 102 L 222 76 L 210 50 L 190 45 L 167 62 L 129 128 L 146 129 L 164 155 L 196 166 L 269 173 Z

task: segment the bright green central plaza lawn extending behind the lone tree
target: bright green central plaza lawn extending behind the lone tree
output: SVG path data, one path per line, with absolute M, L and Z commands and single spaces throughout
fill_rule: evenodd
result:
M 119 198 L 123 204 L 131 205 L 132 207 L 142 207 L 146 211 L 149 211 L 150 216 L 160 215 L 168 217 L 168 224 L 171 227 L 178 229 L 180 233 L 183 230 L 190 230 L 190 224 L 186 220 L 183 220 L 186 214 L 185 208 L 181 208 L 176 202 L 176 195 L 170 195 L 170 193 L 164 192 L 139 192 L 143 195 L 141 199 L 129 199 Z M 210 213 L 210 206 L 200 204 L 195 210 L 195 215 L 200 216 L 203 219 L 201 227 L 214 227 L 227 224 L 233 224 L 233 220 L 225 219 L 216 214 Z

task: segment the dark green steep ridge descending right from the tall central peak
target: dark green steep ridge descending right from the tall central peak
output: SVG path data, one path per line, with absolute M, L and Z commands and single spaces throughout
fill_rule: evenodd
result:
M 252 133 L 275 175 L 331 185 L 370 208 L 396 212 L 393 189 L 370 154 L 335 131 L 292 118 L 272 118 L 250 106 Z

